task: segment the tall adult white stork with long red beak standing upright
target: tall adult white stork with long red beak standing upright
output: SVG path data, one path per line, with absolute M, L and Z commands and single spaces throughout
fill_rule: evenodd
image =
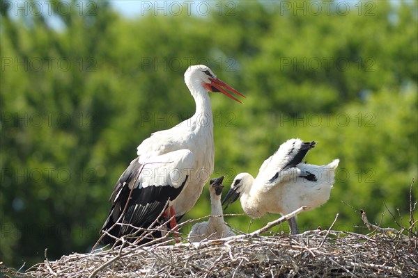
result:
M 196 112 L 171 129 L 153 133 L 138 146 L 138 157 L 123 172 L 111 194 L 111 210 L 102 227 L 111 235 L 104 236 L 105 244 L 132 234 L 136 227 L 148 228 L 168 201 L 166 217 L 185 214 L 213 172 L 215 147 L 208 91 L 222 92 L 238 102 L 241 101 L 228 90 L 244 95 L 217 79 L 205 65 L 190 66 L 185 72 L 185 83 L 196 102 Z M 114 225 L 115 222 L 121 224 Z M 175 219 L 171 222 L 173 227 Z

